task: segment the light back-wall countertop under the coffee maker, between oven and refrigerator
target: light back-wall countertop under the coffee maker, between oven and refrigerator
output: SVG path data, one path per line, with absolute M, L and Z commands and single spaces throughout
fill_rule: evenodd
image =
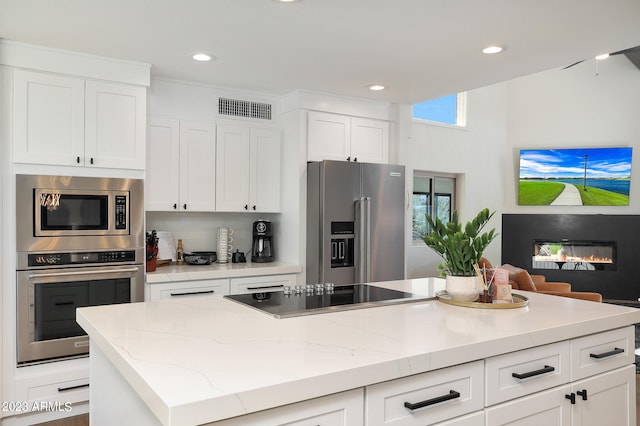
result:
M 212 263 L 210 265 L 169 265 L 147 272 L 147 284 L 175 281 L 212 280 L 222 278 L 255 277 L 263 275 L 297 274 L 302 267 L 294 263 Z

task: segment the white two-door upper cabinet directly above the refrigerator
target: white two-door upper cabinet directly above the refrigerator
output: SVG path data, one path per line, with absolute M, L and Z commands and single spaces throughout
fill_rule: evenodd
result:
M 307 132 L 309 161 L 389 161 L 386 121 L 310 111 Z

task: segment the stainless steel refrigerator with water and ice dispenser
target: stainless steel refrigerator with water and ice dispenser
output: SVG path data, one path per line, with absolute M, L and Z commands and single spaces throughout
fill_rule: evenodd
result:
M 404 279 L 404 166 L 307 163 L 307 283 Z

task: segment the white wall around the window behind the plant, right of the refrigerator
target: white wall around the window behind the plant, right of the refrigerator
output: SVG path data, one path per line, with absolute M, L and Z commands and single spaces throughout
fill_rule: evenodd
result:
M 458 174 L 460 220 L 466 222 L 487 207 L 496 214 L 486 229 L 496 228 L 499 232 L 506 169 L 511 166 L 506 149 L 507 86 L 493 85 L 470 91 L 467 96 L 467 127 L 413 122 L 403 157 L 408 175 L 414 170 Z M 411 190 L 410 183 L 407 188 Z M 411 226 L 410 209 L 407 224 Z M 485 255 L 499 262 L 500 237 Z M 441 262 L 422 241 L 408 243 L 408 278 L 436 276 Z

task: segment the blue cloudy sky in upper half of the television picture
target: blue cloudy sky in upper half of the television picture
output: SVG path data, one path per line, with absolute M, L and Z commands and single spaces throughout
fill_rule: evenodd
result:
M 631 154 L 632 148 L 521 150 L 520 178 L 581 178 L 585 155 L 588 178 L 628 178 Z

